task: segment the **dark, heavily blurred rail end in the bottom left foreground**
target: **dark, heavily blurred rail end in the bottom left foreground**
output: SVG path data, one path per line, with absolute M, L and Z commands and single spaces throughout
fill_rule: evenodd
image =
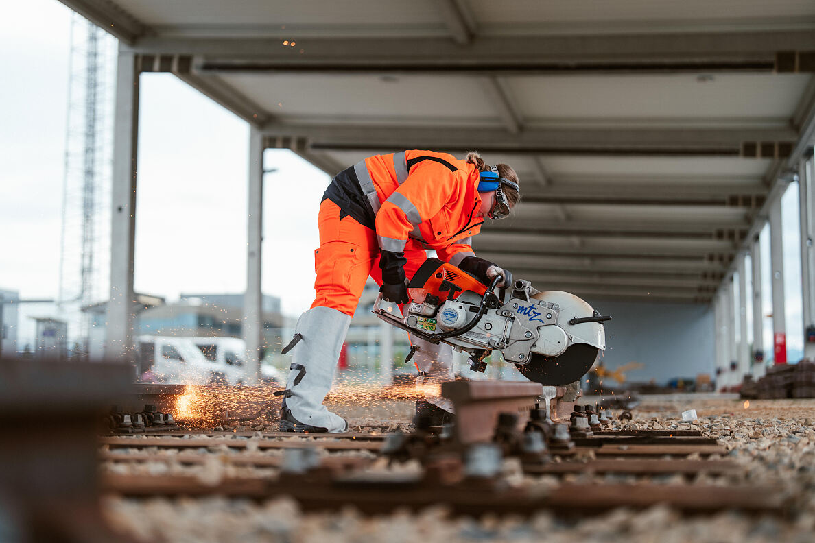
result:
M 99 511 L 99 415 L 125 391 L 121 364 L 0 360 L 0 539 L 130 541 Z

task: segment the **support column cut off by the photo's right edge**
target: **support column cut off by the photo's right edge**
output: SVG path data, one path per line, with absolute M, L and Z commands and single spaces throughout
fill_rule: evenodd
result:
M 801 282 L 804 298 L 804 358 L 815 360 L 815 343 L 808 337 L 815 327 L 815 160 L 802 161 L 798 173 L 801 213 Z

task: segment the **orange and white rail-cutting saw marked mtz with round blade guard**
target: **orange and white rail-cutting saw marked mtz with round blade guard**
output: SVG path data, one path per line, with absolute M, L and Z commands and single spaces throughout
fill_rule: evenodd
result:
M 496 282 L 487 286 L 429 258 L 407 286 L 411 301 L 403 317 L 380 309 L 381 297 L 374 313 L 422 339 L 466 351 L 474 370 L 484 370 L 491 351 L 544 385 L 571 383 L 591 369 L 606 348 L 603 322 L 610 317 L 568 292 L 540 292 L 522 279 L 496 291 Z

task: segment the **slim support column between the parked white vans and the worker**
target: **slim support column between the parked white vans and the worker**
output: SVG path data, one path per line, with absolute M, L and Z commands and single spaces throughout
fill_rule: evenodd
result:
M 244 383 L 260 381 L 262 358 L 262 243 L 263 243 L 263 136 L 252 127 L 249 133 L 249 206 L 246 235 L 246 293 L 244 295 L 244 341 L 246 364 Z

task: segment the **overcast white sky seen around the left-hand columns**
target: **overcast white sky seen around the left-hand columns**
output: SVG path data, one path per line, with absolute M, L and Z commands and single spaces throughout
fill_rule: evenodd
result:
M 0 288 L 55 298 L 71 11 L 55 0 L 0 20 Z M 135 288 L 242 292 L 249 126 L 168 74 L 141 77 Z M 289 151 L 265 155 L 263 291 L 297 315 L 314 297 L 317 211 L 329 178 Z M 29 306 L 21 315 L 46 309 Z

